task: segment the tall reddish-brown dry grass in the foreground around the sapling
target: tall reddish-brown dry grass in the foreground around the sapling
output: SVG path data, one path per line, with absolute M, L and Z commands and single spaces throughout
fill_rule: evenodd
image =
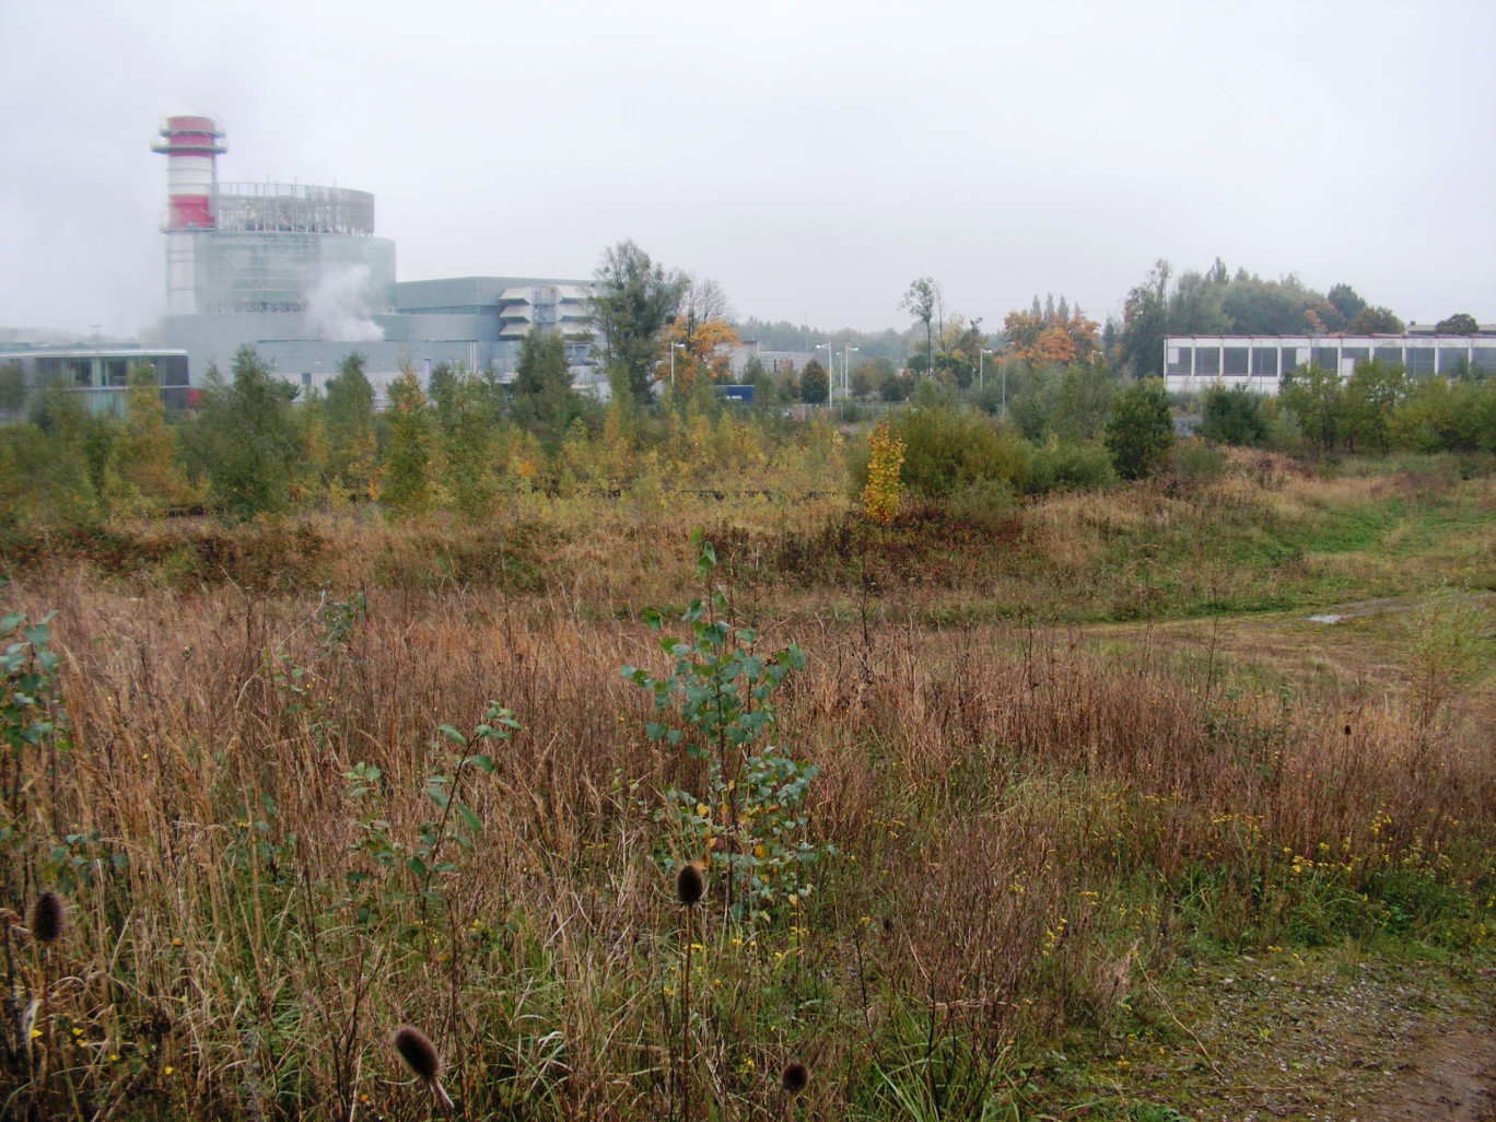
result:
M 1451 723 L 1420 751 L 1397 697 L 1227 693 L 1055 630 L 763 612 L 766 646 L 812 660 L 781 736 L 823 767 L 812 826 L 839 856 L 751 929 L 708 886 L 682 1034 L 651 812 L 687 764 L 619 675 L 666 669 L 645 627 L 455 583 L 371 588 L 346 646 L 305 592 L 64 568 L 10 600 L 60 609 L 76 742 L 25 757 L 37 848 L 9 842 L 0 904 L 66 881 L 69 910 L 51 981 L 6 928 L 16 1118 L 425 1118 L 396 1025 L 468 1118 L 776 1118 L 787 1061 L 815 1073 L 808 1118 L 963 1116 L 1194 939 L 1418 925 L 1474 947 L 1496 889 L 1489 742 Z M 462 779 L 473 848 L 417 872 L 428 779 L 459 755 L 438 726 L 491 699 L 524 730 Z M 19 1025 L 43 986 L 45 1067 Z

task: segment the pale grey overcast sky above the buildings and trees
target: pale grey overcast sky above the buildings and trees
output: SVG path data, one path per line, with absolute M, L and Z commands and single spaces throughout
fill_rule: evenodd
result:
M 739 316 L 1103 319 L 1158 257 L 1496 322 L 1496 3 L 0 0 L 0 325 L 165 305 L 160 118 L 375 194 L 399 280 L 633 238 Z

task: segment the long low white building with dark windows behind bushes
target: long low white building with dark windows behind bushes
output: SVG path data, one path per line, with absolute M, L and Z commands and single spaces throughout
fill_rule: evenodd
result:
M 1284 374 L 1310 362 L 1351 377 L 1372 359 L 1412 377 L 1460 371 L 1496 374 L 1496 332 L 1478 335 L 1170 335 L 1164 383 L 1170 392 L 1222 384 L 1278 393 Z

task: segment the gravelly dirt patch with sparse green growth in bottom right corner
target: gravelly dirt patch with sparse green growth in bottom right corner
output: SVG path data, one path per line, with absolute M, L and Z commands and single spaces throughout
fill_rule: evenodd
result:
M 1149 1029 L 1110 1061 L 1128 1116 L 1496 1119 L 1489 974 L 1279 951 L 1176 971 L 1137 1010 Z

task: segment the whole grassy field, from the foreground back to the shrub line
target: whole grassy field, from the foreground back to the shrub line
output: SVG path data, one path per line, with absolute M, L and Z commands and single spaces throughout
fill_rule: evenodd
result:
M 399 1025 L 471 1119 L 1352 1118 L 1397 1082 L 1355 1032 L 1492 1013 L 1496 485 L 1453 462 L 3 562 L 57 615 L 7 621 L 0 1118 L 440 1115 Z M 1349 1035 L 1279 1070 L 1305 986 Z

